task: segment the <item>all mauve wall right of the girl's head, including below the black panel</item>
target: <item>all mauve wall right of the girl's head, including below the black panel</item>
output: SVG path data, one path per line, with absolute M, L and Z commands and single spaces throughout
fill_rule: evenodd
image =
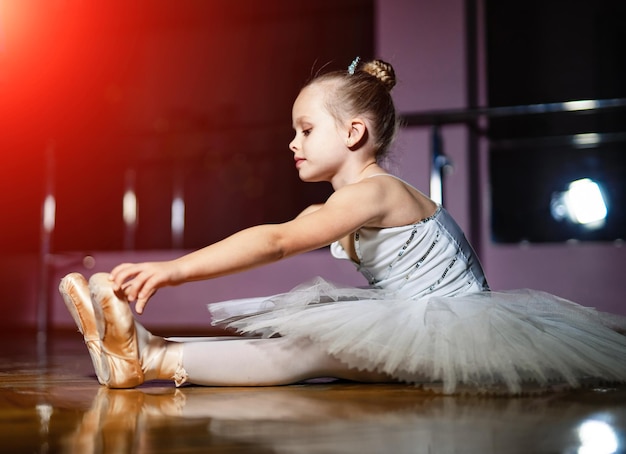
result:
M 463 0 L 379 0 L 378 54 L 400 79 L 401 112 L 465 107 Z M 484 55 L 482 56 L 484 58 Z M 484 83 L 484 77 L 483 77 Z M 484 89 L 484 87 L 483 87 Z M 484 103 L 484 94 L 483 103 Z M 447 207 L 467 229 L 468 192 L 463 128 L 444 131 L 454 172 L 446 180 Z M 399 173 L 428 191 L 428 134 L 404 131 L 398 143 Z M 486 151 L 482 147 L 482 173 Z M 535 288 L 586 306 L 626 313 L 626 248 L 621 243 L 497 245 L 489 238 L 488 181 L 483 181 L 481 259 L 494 289 Z

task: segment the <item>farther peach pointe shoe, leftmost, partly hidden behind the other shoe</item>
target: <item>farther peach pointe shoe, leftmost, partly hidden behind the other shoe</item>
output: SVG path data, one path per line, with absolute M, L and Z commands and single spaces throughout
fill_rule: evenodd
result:
M 59 293 L 61 293 L 65 306 L 72 315 L 78 331 L 83 335 L 98 381 L 100 384 L 104 384 L 102 380 L 102 361 L 100 360 L 102 353 L 100 336 L 96 326 L 96 316 L 91 302 L 87 279 L 80 273 L 70 273 L 61 279 Z

